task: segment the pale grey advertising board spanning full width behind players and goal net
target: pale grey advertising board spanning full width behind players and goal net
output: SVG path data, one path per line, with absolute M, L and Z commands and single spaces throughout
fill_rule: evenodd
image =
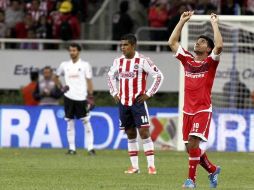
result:
M 99 55 L 99 56 L 98 56 Z M 92 65 L 94 75 L 95 90 L 108 90 L 105 75 L 112 65 L 114 58 L 120 52 L 112 51 L 82 51 L 81 58 L 89 61 Z M 179 90 L 179 61 L 173 57 L 171 52 L 145 52 L 164 74 L 164 82 L 160 91 L 176 92 Z M 30 70 L 41 70 L 45 66 L 56 69 L 59 64 L 69 59 L 67 51 L 15 51 L 5 50 L 0 52 L 1 56 L 1 75 L 0 89 L 20 89 L 29 83 Z M 50 59 L 45 59 L 49 58 Z M 241 58 L 241 59 L 240 59 Z M 241 54 L 237 56 L 236 69 L 239 77 L 252 91 L 254 89 L 254 69 L 249 60 L 251 55 Z M 233 67 L 232 54 L 223 53 L 221 64 L 217 69 L 213 92 L 222 92 L 224 83 L 230 81 L 230 71 Z M 151 80 L 149 81 L 151 82 Z M 170 85 L 168 85 L 170 84 Z

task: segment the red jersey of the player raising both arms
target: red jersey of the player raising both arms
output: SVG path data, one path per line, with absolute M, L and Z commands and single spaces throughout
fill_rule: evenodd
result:
M 184 66 L 184 113 L 212 112 L 211 91 L 220 56 L 212 52 L 203 61 L 194 61 L 194 56 L 179 46 L 176 58 Z

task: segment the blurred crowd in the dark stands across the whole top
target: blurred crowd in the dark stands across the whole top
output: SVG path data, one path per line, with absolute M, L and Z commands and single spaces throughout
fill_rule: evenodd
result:
M 81 23 L 89 11 L 103 0 L 0 0 L 0 38 L 80 39 Z M 136 0 L 118 1 L 119 9 L 112 18 L 112 39 L 135 33 L 139 27 L 174 28 L 180 14 L 253 15 L 253 0 Z M 135 3 L 134 3 L 135 2 Z M 132 4 L 130 8 L 129 4 Z M 92 10 L 95 14 L 96 8 Z M 168 33 L 151 32 L 151 40 L 161 40 Z M 16 44 L 13 44 L 17 46 Z M 22 49 L 37 49 L 36 43 L 19 44 Z M 48 47 L 50 48 L 50 47 Z M 115 47 L 113 47 L 115 48 Z

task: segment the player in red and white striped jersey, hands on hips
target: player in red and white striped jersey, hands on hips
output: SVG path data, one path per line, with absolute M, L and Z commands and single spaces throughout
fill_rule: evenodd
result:
M 125 173 L 139 173 L 138 130 L 147 158 L 148 173 L 156 174 L 154 145 L 150 137 L 150 122 L 145 101 L 158 91 L 163 75 L 148 57 L 135 50 L 136 43 L 137 39 L 133 34 L 126 34 L 121 38 L 123 55 L 114 60 L 108 72 L 108 86 L 110 94 L 119 105 L 120 128 L 125 130 L 128 137 L 128 152 L 132 166 Z M 148 75 L 154 80 L 146 90 Z M 119 88 L 116 87 L 116 80 L 119 80 Z

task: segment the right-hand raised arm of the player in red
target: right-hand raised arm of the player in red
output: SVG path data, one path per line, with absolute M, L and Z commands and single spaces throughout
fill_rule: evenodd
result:
M 213 52 L 215 55 L 219 55 L 222 52 L 222 48 L 223 48 L 223 40 L 222 40 L 222 36 L 221 36 L 220 29 L 218 26 L 219 18 L 216 14 L 212 13 L 210 21 L 211 21 L 211 25 L 212 25 L 213 32 L 214 32 Z

